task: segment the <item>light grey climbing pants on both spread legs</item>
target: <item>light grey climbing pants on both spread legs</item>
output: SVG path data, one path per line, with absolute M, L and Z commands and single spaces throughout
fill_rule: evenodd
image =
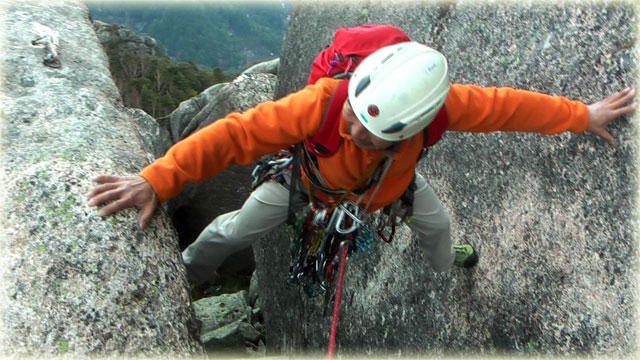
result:
M 451 267 L 455 253 L 449 232 L 449 217 L 425 179 L 416 174 L 413 217 L 409 227 L 435 271 Z M 182 257 L 194 285 L 211 282 L 215 270 L 236 251 L 251 246 L 287 220 L 289 190 L 276 181 L 266 181 L 251 193 L 242 208 L 220 215 L 187 247 Z

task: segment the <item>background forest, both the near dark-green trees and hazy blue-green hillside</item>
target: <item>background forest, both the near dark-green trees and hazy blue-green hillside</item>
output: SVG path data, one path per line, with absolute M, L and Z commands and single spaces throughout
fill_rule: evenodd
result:
M 91 18 L 123 24 L 156 39 L 157 56 L 105 44 L 124 104 L 154 118 L 182 101 L 280 55 L 286 2 L 87 2 Z

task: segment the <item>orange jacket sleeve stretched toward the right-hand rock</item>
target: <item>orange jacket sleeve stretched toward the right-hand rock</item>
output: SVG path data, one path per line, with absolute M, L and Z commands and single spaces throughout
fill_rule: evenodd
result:
M 578 133 L 589 123 L 587 107 L 579 101 L 511 88 L 452 84 L 445 107 L 447 130 L 453 131 Z

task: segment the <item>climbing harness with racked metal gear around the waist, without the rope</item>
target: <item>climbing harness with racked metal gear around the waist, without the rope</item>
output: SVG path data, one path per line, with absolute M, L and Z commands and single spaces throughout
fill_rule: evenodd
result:
M 289 188 L 289 215 L 285 230 L 290 238 L 291 261 L 287 281 L 299 285 L 307 297 L 313 298 L 326 293 L 331 287 L 342 242 L 352 244 L 350 252 L 356 250 L 371 254 L 376 237 L 387 243 L 392 241 L 396 227 L 410 220 L 415 185 L 412 181 L 401 199 L 378 212 L 377 216 L 368 214 L 371 199 L 391 166 L 390 158 L 381 153 L 349 189 L 329 191 L 323 186 L 319 171 L 309 169 L 314 165 L 305 152 L 304 146 L 299 144 L 291 151 L 283 150 L 261 159 L 253 171 L 252 186 L 255 188 L 273 179 Z M 311 189 L 302 184 L 302 171 L 309 179 Z M 373 184 L 376 186 L 372 190 Z M 337 199 L 328 203 L 314 201 L 314 190 Z M 369 203 L 362 209 L 360 203 L 368 192 L 371 192 Z M 359 199 L 347 199 L 350 194 L 357 195 Z

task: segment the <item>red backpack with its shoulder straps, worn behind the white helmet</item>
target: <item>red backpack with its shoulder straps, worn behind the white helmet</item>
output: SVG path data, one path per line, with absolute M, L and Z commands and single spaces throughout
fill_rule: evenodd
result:
M 333 155 L 342 137 L 339 134 L 340 113 L 347 99 L 348 78 L 358 64 L 372 52 L 401 42 L 411 41 L 402 30 L 391 25 L 362 25 L 338 28 L 333 42 L 316 56 L 311 65 L 307 84 L 315 84 L 322 77 L 345 78 L 331 95 L 318 132 L 305 140 L 305 147 L 319 157 Z M 435 144 L 447 129 L 449 120 L 444 106 L 424 130 L 424 146 Z

